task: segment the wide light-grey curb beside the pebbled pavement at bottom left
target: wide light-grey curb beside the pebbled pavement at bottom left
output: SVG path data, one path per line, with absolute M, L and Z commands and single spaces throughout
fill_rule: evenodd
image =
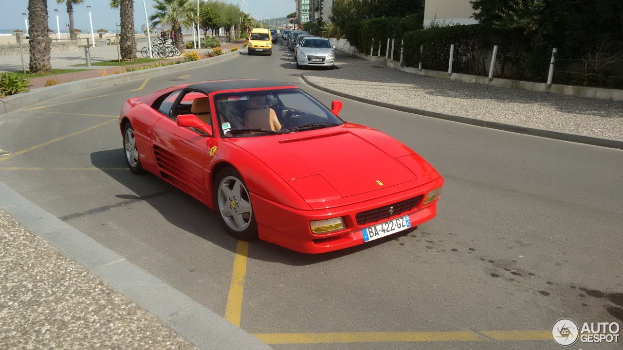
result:
M 196 301 L 0 182 L 0 209 L 199 349 L 270 349 Z

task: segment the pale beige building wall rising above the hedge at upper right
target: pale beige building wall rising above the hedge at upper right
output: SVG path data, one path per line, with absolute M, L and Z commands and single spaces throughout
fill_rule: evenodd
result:
M 470 0 L 426 0 L 424 2 L 424 27 L 430 22 L 445 24 L 475 24 Z

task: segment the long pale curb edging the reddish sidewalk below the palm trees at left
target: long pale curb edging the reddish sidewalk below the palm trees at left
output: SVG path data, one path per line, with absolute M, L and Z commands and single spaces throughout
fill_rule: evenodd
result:
M 39 103 L 50 98 L 67 96 L 70 93 L 87 90 L 90 88 L 104 87 L 107 85 L 115 85 L 125 83 L 131 80 L 155 77 L 165 73 L 178 72 L 179 70 L 201 67 L 203 65 L 213 64 L 222 60 L 233 58 L 240 54 L 240 51 L 229 52 L 224 55 L 202 59 L 193 62 L 168 65 L 165 67 L 151 68 L 146 70 L 138 70 L 136 72 L 127 72 L 115 75 L 107 75 L 106 77 L 88 78 L 76 80 L 75 82 L 62 83 L 51 87 L 37 88 L 32 92 L 18 93 L 0 100 L 0 115 L 10 113 L 20 108 L 24 108 L 34 103 Z

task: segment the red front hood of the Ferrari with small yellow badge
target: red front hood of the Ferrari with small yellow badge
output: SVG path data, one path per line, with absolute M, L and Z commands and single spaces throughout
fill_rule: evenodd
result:
M 369 128 L 338 126 L 227 140 L 260 159 L 308 202 L 355 196 L 417 179 L 397 159 L 412 151 Z

